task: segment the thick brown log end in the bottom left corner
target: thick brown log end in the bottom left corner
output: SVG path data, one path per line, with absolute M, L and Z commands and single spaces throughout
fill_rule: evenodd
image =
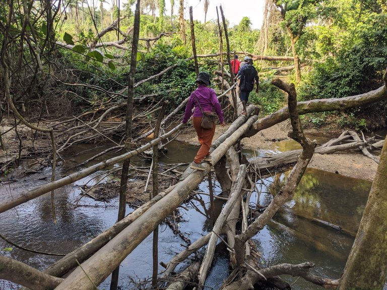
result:
M 53 289 L 63 279 L 42 273 L 35 268 L 11 258 L 0 256 L 0 279 L 9 280 L 31 290 Z

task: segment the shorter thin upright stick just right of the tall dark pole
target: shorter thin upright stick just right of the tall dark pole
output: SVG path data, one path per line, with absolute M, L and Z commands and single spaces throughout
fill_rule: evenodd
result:
M 160 125 L 161 121 L 163 120 L 163 117 L 165 115 L 165 110 L 167 109 L 168 101 L 163 103 L 163 107 L 161 108 L 159 117 L 157 118 L 155 132 L 154 132 L 154 138 L 157 138 L 159 136 L 160 131 Z M 158 186 L 158 163 L 159 163 L 159 152 L 158 152 L 158 145 L 156 144 L 153 146 L 153 166 L 152 166 L 152 181 L 153 181 L 153 191 L 150 194 L 150 198 L 152 199 L 158 194 L 159 186 Z M 158 258 L 158 239 L 159 239 L 159 227 L 157 226 L 156 229 L 153 231 L 153 270 L 152 270 L 152 287 L 156 287 L 157 285 L 157 269 L 159 264 L 159 258 Z

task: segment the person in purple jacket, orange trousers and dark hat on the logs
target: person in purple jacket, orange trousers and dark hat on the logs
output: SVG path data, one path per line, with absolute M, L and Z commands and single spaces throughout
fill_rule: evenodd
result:
M 189 96 L 188 103 L 185 107 L 184 118 L 181 122 L 183 124 L 188 122 L 190 116 L 192 115 L 192 109 L 195 106 L 195 111 L 192 116 L 192 124 L 198 134 L 201 147 L 189 167 L 196 170 L 205 170 L 206 168 L 201 164 L 201 162 L 211 162 L 211 155 L 209 155 L 209 152 L 212 138 L 215 133 L 215 122 L 212 129 L 202 128 L 201 123 L 203 114 L 200 106 L 205 112 L 212 112 L 215 110 L 219 116 L 220 124 L 222 126 L 225 126 L 226 124 L 224 123 L 223 111 L 215 91 L 208 87 L 211 84 L 210 75 L 206 72 L 199 73 L 196 83 L 198 84 L 198 89 L 193 91 Z M 200 103 L 200 106 L 198 105 L 198 102 Z

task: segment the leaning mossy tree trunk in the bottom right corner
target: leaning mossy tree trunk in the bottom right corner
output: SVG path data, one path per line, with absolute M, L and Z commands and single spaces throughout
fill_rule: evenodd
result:
M 380 154 L 375 179 L 339 289 L 382 289 L 387 274 L 387 145 Z

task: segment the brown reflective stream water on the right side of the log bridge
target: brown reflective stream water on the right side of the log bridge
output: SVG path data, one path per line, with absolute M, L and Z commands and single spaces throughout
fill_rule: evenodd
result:
M 272 179 L 271 192 L 280 188 L 287 174 Z M 263 188 L 262 182 L 259 185 Z M 264 259 L 268 264 L 312 261 L 316 264 L 312 273 L 339 278 L 352 247 L 370 187 L 369 181 L 307 169 L 293 200 L 287 202 L 272 222 L 254 237 Z M 263 196 L 261 204 L 268 204 L 269 194 Z M 340 226 L 342 230 L 334 229 L 327 223 Z M 294 277 L 285 279 L 295 280 Z M 320 287 L 299 279 L 292 288 Z

